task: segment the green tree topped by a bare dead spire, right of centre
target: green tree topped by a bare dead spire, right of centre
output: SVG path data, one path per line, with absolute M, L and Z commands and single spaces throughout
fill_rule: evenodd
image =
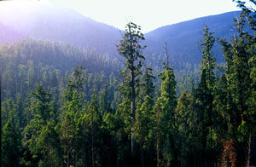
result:
M 168 56 L 166 53 L 166 62 Z M 157 99 L 154 112 L 157 134 L 157 166 L 175 164 L 176 133 L 175 109 L 177 107 L 176 80 L 172 67 L 163 63 L 164 71 L 158 76 L 161 80 L 160 97 Z

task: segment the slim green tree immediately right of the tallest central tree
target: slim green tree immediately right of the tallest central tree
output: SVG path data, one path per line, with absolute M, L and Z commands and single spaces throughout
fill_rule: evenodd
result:
M 142 165 L 146 166 L 149 164 L 152 164 L 152 158 L 150 158 L 149 151 L 154 152 L 154 149 L 150 149 L 150 146 L 152 148 L 153 146 L 153 128 L 154 128 L 154 75 L 153 75 L 153 69 L 151 67 L 148 67 L 145 69 L 145 72 L 143 74 L 143 83 L 142 83 L 142 94 L 143 97 L 143 103 L 142 105 L 137 109 L 137 121 L 135 124 L 135 135 L 137 138 L 137 141 L 140 144 L 140 150 L 141 150 L 141 162 Z M 144 157 L 144 150 L 146 151 L 146 156 Z M 149 154 L 150 153 L 150 154 Z

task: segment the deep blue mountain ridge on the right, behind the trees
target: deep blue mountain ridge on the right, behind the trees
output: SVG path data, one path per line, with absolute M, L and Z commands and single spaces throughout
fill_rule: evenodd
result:
M 145 44 L 148 46 L 147 55 L 165 55 L 164 43 L 166 42 L 174 65 L 181 61 L 192 64 L 198 63 L 201 60 L 200 43 L 203 42 L 202 30 L 206 25 L 209 27 L 210 32 L 214 32 L 213 37 L 226 37 L 229 40 L 236 32 L 233 19 L 239 14 L 240 12 L 236 11 L 211 15 L 170 26 L 162 26 L 152 32 L 148 32 L 145 34 L 147 39 Z M 218 62 L 224 61 L 218 43 L 215 43 L 213 52 Z

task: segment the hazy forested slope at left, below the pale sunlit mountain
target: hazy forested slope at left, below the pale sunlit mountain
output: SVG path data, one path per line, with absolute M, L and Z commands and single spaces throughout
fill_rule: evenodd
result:
M 42 84 L 58 99 L 64 80 L 76 66 L 83 66 L 88 89 L 102 89 L 109 76 L 118 75 L 116 60 L 90 49 L 79 49 L 65 43 L 46 41 L 20 41 L 0 46 L 1 101 L 22 98 Z M 92 83 L 94 82 L 94 83 Z M 90 97 L 92 92 L 87 92 Z

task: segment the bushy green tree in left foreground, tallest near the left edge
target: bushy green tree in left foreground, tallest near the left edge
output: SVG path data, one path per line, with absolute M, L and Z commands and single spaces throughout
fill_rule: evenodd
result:
M 56 142 L 51 143 L 50 141 L 55 140 L 49 140 L 44 143 L 39 143 L 38 139 L 45 137 L 44 130 L 47 128 L 47 124 L 55 124 L 58 114 L 56 112 L 55 103 L 51 101 L 51 95 L 42 85 L 36 85 L 35 90 L 31 92 L 31 96 L 28 110 L 31 111 L 32 119 L 26 125 L 23 133 L 26 141 L 24 145 L 28 151 L 26 153 L 30 154 L 32 158 L 25 159 L 25 163 L 38 164 L 41 160 L 45 160 L 49 163 L 48 154 L 46 155 L 46 153 L 49 153 L 50 150 L 44 152 L 44 147 L 54 145 Z M 54 134 L 54 132 L 51 134 Z

